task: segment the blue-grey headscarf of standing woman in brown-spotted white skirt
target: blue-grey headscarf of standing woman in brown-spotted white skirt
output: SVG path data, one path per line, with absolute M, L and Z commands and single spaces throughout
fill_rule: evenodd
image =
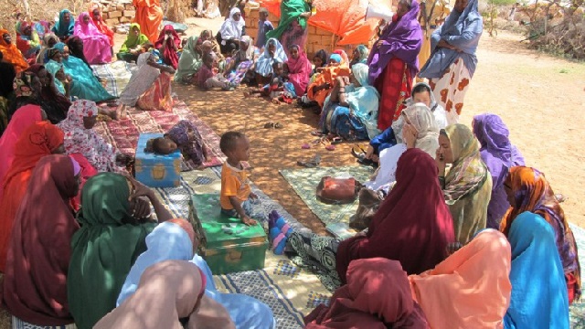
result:
M 432 33 L 431 58 L 420 69 L 421 78 L 441 78 L 457 58 L 463 58 L 465 68 L 469 70 L 470 77 L 473 77 L 477 65 L 475 51 L 484 31 L 482 16 L 477 9 L 478 3 L 477 0 L 469 0 L 463 13 L 452 10 L 445 23 Z M 462 51 L 437 48 L 441 39 Z

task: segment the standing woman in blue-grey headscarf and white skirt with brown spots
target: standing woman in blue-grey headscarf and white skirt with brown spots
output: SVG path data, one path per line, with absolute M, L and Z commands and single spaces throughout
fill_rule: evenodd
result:
M 431 36 L 431 58 L 420 69 L 419 77 L 428 78 L 432 92 L 447 111 L 447 122 L 459 121 L 463 98 L 473 78 L 475 51 L 484 31 L 478 0 L 456 0 L 445 23 Z

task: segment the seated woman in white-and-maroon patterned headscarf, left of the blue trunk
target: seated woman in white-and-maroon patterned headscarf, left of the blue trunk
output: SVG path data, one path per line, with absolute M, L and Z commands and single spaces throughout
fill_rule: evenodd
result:
M 98 106 L 94 101 L 74 101 L 67 119 L 58 123 L 65 133 L 67 154 L 82 154 L 99 172 L 119 172 L 128 160 L 93 130 L 98 118 Z

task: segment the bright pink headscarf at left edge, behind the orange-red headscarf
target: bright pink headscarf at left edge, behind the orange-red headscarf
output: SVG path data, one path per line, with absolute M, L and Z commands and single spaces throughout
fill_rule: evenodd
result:
M 13 160 L 15 159 L 15 147 L 16 141 L 20 138 L 20 135 L 35 122 L 42 120 L 41 109 L 38 105 L 25 105 L 18 109 L 12 116 L 6 130 L 0 137 L 0 182 L 4 181 L 5 175 L 10 168 Z M 0 200 L 4 188 L 0 188 Z

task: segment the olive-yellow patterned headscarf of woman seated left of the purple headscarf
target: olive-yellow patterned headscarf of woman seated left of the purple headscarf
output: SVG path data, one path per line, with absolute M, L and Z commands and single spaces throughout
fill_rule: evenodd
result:
M 445 176 L 445 202 L 453 205 L 477 191 L 487 179 L 488 171 L 479 154 L 479 145 L 472 131 L 464 124 L 444 129 L 451 143 L 453 164 Z

